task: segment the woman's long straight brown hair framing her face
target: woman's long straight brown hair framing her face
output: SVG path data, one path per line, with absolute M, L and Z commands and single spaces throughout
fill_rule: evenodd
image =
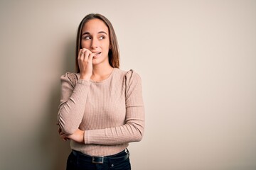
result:
M 83 28 L 83 26 L 85 26 L 85 23 L 87 23 L 87 21 L 90 21 L 95 18 L 103 21 L 106 24 L 106 26 L 110 32 L 111 49 L 109 50 L 109 53 L 108 53 L 109 62 L 112 67 L 119 68 L 119 48 L 118 48 L 118 43 L 117 43 L 117 36 L 114 33 L 114 28 L 113 28 L 112 24 L 105 16 L 102 16 L 99 13 L 90 13 L 87 16 L 85 16 L 85 18 L 82 19 L 82 21 L 80 22 L 80 24 L 78 26 L 78 35 L 77 35 L 76 47 L 75 47 L 75 71 L 77 73 L 80 72 L 79 65 L 78 65 L 78 52 L 82 48 L 82 46 L 81 46 L 82 28 Z

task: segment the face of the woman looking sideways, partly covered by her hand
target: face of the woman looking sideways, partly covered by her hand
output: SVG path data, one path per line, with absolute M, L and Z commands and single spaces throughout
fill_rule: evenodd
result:
M 81 46 L 95 53 L 92 64 L 109 62 L 110 36 L 103 21 L 95 18 L 85 23 L 82 28 Z

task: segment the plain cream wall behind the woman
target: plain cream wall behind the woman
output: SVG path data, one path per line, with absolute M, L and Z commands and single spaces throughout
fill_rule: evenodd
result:
M 256 1 L 0 1 L 0 169 L 62 170 L 55 125 L 75 36 L 102 13 L 142 77 L 135 170 L 256 169 Z

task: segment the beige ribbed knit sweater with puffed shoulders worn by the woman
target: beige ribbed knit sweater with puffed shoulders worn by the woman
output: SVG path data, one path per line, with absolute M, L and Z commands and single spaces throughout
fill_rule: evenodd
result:
M 58 125 L 68 135 L 78 128 L 85 130 L 84 143 L 71 140 L 71 149 L 107 156 L 122 152 L 129 142 L 142 140 L 144 103 L 139 75 L 114 68 L 103 81 L 79 77 L 79 73 L 60 77 Z

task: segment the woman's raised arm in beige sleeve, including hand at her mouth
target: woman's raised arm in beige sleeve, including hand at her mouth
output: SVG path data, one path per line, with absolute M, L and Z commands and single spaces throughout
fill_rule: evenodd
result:
M 90 89 L 92 76 L 92 58 L 95 56 L 90 50 L 82 48 L 78 52 L 80 77 L 67 73 L 60 77 L 60 106 L 58 111 L 58 125 L 65 135 L 72 135 L 78 130 L 85 112 L 85 103 Z M 74 79 L 78 79 L 74 82 Z

